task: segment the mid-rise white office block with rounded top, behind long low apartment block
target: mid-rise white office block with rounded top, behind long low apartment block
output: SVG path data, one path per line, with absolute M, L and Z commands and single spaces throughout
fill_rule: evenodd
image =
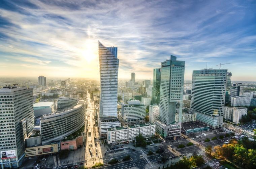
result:
M 146 106 L 139 100 L 129 100 L 122 104 L 119 121 L 122 125 L 145 123 Z

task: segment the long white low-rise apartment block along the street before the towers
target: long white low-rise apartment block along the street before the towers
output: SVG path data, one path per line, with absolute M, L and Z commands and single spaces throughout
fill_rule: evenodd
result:
M 134 124 L 130 126 L 111 127 L 107 129 L 107 143 L 131 141 L 139 134 L 143 137 L 155 135 L 156 127 L 153 123 Z

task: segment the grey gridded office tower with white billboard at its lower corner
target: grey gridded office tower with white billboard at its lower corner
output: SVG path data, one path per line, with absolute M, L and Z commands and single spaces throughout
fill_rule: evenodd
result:
M 25 157 L 25 139 L 34 129 L 33 89 L 0 89 L 1 168 L 19 168 Z

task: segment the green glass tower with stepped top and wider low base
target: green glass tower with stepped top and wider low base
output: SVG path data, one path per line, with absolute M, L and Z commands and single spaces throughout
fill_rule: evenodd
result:
M 162 137 L 172 137 L 181 134 L 182 100 L 184 88 L 185 61 L 178 61 L 172 56 L 162 62 L 159 120 L 155 121 L 156 130 Z M 175 123 L 175 103 L 180 103 L 180 121 Z

